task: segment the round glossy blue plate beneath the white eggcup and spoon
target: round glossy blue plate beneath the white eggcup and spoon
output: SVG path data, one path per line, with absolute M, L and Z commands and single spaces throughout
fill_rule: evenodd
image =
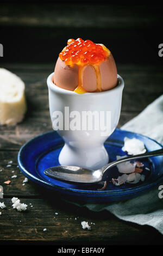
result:
M 116 129 L 105 142 L 105 148 L 109 153 L 110 162 L 115 161 L 117 155 L 126 155 L 121 149 L 124 137 L 140 139 L 148 151 L 162 148 L 161 144 L 151 138 Z M 58 156 L 63 145 L 64 141 L 57 132 L 50 131 L 43 133 L 22 146 L 18 153 L 18 165 L 21 172 L 28 179 L 46 188 L 51 188 L 55 192 L 59 192 L 60 196 L 68 200 L 89 203 L 126 200 L 140 196 L 140 194 L 147 192 L 163 180 L 163 156 L 141 160 L 145 165 L 142 172 L 145 175 L 145 181 L 140 181 L 137 184 L 113 185 L 110 182 L 111 178 L 117 178 L 121 174 L 118 173 L 117 167 L 112 168 L 104 176 L 107 186 L 103 191 L 98 191 L 97 188 L 99 187 L 97 185 L 81 186 L 49 178 L 43 171 L 49 167 L 59 165 Z

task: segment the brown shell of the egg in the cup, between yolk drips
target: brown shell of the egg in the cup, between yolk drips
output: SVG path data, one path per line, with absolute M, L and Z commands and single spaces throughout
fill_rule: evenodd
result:
M 100 65 L 102 90 L 109 90 L 117 85 L 117 69 L 112 54 Z M 70 67 L 58 58 L 55 65 L 53 82 L 56 86 L 74 90 L 78 87 L 78 66 Z M 96 73 L 92 66 L 85 66 L 83 71 L 83 87 L 87 92 L 95 92 L 97 89 Z

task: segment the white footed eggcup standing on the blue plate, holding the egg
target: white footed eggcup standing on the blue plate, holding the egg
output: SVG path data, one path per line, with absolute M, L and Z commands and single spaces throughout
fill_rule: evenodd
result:
M 124 82 L 99 93 L 77 94 L 55 86 L 53 74 L 47 78 L 49 111 L 53 129 L 64 139 L 59 163 L 98 169 L 109 162 L 105 140 L 116 129 L 121 112 Z

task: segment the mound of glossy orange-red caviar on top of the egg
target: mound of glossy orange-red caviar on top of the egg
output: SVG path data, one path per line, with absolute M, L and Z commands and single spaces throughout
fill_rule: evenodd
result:
M 65 61 L 66 65 L 77 64 L 84 65 L 98 65 L 104 62 L 110 55 L 110 51 L 101 45 L 96 45 L 91 40 L 77 40 L 69 39 L 67 46 L 60 52 L 59 57 Z

